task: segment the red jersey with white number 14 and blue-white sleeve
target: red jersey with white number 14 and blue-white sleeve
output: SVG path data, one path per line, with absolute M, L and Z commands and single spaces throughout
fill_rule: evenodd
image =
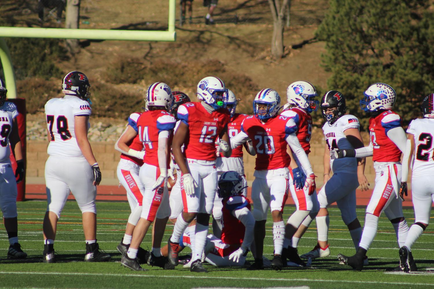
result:
M 141 114 L 137 128 L 139 139 L 145 147 L 143 162 L 158 167 L 158 134 L 167 130 L 170 137 L 175 123 L 175 118 L 164 110 L 148 110 Z

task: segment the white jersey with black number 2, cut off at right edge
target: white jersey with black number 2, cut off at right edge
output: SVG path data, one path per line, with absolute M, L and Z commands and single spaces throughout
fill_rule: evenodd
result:
M 413 176 L 434 175 L 434 120 L 412 120 L 407 133 L 414 135 Z

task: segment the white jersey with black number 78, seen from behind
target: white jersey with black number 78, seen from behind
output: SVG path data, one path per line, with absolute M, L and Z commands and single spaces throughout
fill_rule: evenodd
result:
M 76 96 L 52 98 L 45 104 L 47 128 L 50 138 L 47 153 L 50 156 L 67 156 L 84 159 L 74 130 L 74 117 L 90 115 L 89 103 Z M 89 129 L 89 123 L 87 125 Z

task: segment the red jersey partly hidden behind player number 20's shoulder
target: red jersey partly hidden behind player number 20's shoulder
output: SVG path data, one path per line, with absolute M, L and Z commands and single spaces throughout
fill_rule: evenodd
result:
M 310 137 L 312 136 L 312 117 L 305 110 L 291 107 L 283 110 L 280 115 L 294 120 L 297 126 L 296 135 L 306 155 L 310 153 Z

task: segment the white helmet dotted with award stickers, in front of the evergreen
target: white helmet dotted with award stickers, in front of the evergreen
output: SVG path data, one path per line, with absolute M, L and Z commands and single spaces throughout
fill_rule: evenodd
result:
M 396 92 L 390 85 L 377 82 L 371 84 L 363 93 L 360 107 L 366 112 L 380 109 L 391 109 L 396 101 Z

